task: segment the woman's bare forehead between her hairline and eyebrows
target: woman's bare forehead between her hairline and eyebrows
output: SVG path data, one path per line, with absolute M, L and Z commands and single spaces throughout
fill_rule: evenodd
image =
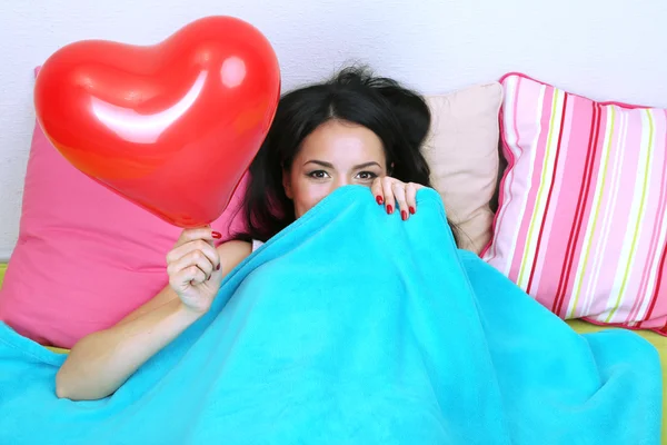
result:
M 303 161 L 318 158 L 335 164 L 346 161 L 382 162 L 385 149 L 380 138 L 368 128 L 331 119 L 303 139 L 297 158 Z

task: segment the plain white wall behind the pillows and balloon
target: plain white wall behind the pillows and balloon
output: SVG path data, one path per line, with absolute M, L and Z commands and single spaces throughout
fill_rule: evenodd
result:
M 76 40 L 153 43 L 209 14 L 258 27 L 286 88 L 359 59 L 422 92 L 522 71 L 667 107 L 665 0 L 0 0 L 0 260 L 18 235 L 32 68 Z

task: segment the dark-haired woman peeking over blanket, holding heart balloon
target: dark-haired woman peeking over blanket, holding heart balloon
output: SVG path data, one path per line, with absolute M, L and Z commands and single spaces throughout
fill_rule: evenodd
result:
M 250 167 L 248 233 L 216 248 L 220 234 L 210 227 L 183 230 L 167 255 L 169 286 L 116 326 L 78 342 L 58 372 L 58 397 L 97 399 L 116 392 L 208 312 L 225 275 L 258 243 L 336 188 L 367 186 L 387 214 L 410 218 L 417 190 L 429 186 L 419 151 L 429 126 L 420 96 L 361 69 L 286 95 Z

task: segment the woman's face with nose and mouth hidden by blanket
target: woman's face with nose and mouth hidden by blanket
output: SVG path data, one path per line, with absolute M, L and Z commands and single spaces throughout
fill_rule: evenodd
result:
M 331 119 L 303 140 L 291 169 L 282 175 L 282 185 L 299 218 L 338 187 L 370 187 L 375 178 L 386 175 L 380 138 L 366 127 Z

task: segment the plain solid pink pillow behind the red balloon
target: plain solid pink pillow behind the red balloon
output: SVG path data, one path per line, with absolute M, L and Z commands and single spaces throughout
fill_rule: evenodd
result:
M 243 227 L 236 211 L 243 186 L 211 225 L 222 240 Z M 36 126 L 0 320 L 41 344 L 70 348 L 167 285 L 165 257 L 180 231 L 81 174 Z

